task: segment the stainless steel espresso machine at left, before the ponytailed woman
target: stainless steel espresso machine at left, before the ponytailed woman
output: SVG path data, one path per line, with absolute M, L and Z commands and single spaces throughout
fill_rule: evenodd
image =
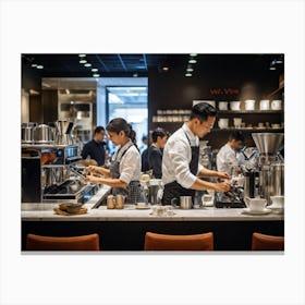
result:
M 22 203 L 84 204 L 96 194 L 96 184 L 85 184 L 76 174 L 75 163 L 82 158 L 78 146 L 69 145 L 63 134 L 69 135 L 58 133 L 56 141 L 22 144 Z

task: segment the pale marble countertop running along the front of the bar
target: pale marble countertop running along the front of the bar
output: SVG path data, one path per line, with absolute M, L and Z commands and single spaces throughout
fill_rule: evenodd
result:
M 22 204 L 23 221 L 283 221 L 284 215 L 270 212 L 268 215 L 246 215 L 242 208 L 174 209 L 173 216 L 151 216 L 151 208 L 136 209 L 136 206 L 125 206 L 124 209 L 107 209 L 105 206 L 93 209 L 101 200 L 110 187 L 103 186 L 84 206 L 85 215 L 60 216 L 53 211 L 58 203 Z

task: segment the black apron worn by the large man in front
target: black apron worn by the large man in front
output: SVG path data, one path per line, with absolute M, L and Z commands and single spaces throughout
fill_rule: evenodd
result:
M 192 146 L 191 141 L 186 133 L 185 133 L 185 136 L 186 136 L 186 138 L 190 143 L 191 149 L 192 149 L 192 159 L 188 164 L 190 171 L 196 175 L 198 172 L 198 163 L 199 163 L 199 146 Z M 173 181 L 173 182 L 164 185 L 162 205 L 171 205 L 171 199 L 179 198 L 180 196 L 192 196 L 193 204 L 194 204 L 195 192 L 196 192 L 195 190 L 185 188 L 181 184 L 179 184 L 176 181 Z M 180 203 L 179 203 L 179 205 L 180 205 Z

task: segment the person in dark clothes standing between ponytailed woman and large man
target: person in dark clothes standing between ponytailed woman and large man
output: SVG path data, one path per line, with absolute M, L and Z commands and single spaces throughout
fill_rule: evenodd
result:
M 163 129 L 157 129 L 151 134 L 152 144 L 148 148 L 148 166 L 152 169 L 156 179 L 162 178 L 162 149 L 168 141 L 168 133 Z

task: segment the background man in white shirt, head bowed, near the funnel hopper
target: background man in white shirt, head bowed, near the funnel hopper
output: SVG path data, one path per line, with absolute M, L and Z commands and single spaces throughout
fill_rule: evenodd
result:
M 244 135 L 240 131 L 230 134 L 228 143 L 220 148 L 216 157 L 218 171 L 232 174 L 232 168 L 241 164 L 243 155 L 239 150 L 243 147 L 244 141 Z

